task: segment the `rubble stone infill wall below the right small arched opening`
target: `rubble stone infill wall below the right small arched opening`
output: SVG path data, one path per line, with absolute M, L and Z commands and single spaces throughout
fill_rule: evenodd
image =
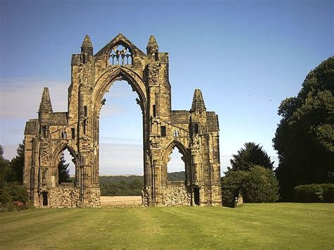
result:
M 163 187 L 165 206 L 190 206 L 191 195 L 184 182 L 168 182 Z

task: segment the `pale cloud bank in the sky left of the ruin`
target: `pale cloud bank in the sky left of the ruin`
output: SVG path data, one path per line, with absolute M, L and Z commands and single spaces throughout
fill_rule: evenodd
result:
M 49 87 L 54 111 L 67 111 L 69 82 L 32 77 L 0 80 L 0 143 L 4 146 L 5 158 L 16 156 L 25 122 L 37 118 L 44 87 Z

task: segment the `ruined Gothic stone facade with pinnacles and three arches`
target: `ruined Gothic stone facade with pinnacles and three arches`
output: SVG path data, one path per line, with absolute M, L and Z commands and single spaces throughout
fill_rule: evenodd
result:
M 171 110 L 168 53 L 159 52 L 154 36 L 144 54 L 119 34 L 93 54 L 85 37 L 73 54 L 68 111 L 54 112 L 44 88 L 38 118 L 25 126 L 23 181 L 35 206 L 99 206 L 99 113 L 104 94 L 116 80 L 137 92 L 142 109 L 143 206 L 221 205 L 218 115 L 206 111 L 195 89 L 190 111 Z M 183 154 L 185 182 L 167 181 L 173 148 Z M 58 162 L 68 149 L 75 163 L 75 182 L 58 184 Z

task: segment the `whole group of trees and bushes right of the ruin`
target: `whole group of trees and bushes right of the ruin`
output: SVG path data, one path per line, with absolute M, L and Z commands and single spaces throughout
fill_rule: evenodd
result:
M 278 107 L 273 138 L 278 168 L 259 144 L 247 142 L 222 177 L 223 204 L 245 201 L 334 201 L 334 57 L 311 70 L 297 96 Z M 302 197 L 302 198 L 301 198 Z

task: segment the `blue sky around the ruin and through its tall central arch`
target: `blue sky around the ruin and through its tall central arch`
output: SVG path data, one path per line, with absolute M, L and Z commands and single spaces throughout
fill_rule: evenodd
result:
M 276 156 L 271 139 L 280 101 L 295 96 L 309 70 L 333 55 L 333 1 L 3 0 L 0 18 L 0 144 L 6 158 L 22 141 L 25 120 L 37 117 L 42 87 L 49 87 L 54 111 L 66 111 L 70 57 L 80 53 L 86 34 L 94 52 L 118 33 L 145 52 L 154 35 L 159 51 L 169 53 L 172 108 L 190 109 L 199 88 L 206 108 L 218 113 L 223 168 L 245 142 Z M 140 156 L 139 167 L 128 170 L 118 169 L 119 153 L 107 158 L 114 144 L 141 143 L 140 111 L 129 89 L 123 82 L 111 87 L 115 93 L 101 113 L 105 174 L 142 171 Z M 138 125 L 126 125 L 130 117 Z

